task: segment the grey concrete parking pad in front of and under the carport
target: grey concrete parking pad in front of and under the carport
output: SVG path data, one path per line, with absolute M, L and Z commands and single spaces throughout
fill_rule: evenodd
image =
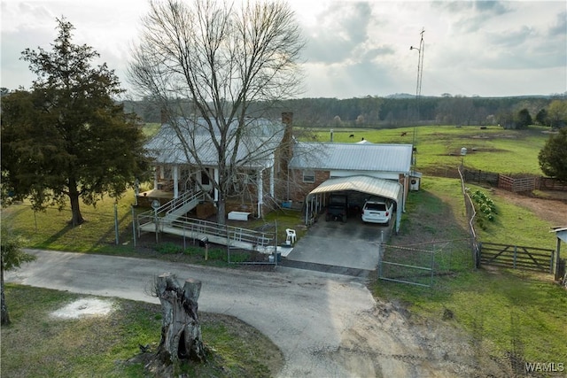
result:
M 284 258 L 283 265 L 302 267 L 304 263 L 303 267 L 319 267 L 316 270 L 365 275 L 377 268 L 380 241 L 386 241 L 391 232 L 392 225 L 364 223 L 360 217 L 349 218 L 346 223 L 319 217 Z

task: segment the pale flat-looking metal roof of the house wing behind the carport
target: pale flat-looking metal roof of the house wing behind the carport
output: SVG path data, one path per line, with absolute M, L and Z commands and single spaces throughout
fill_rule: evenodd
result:
M 290 167 L 409 173 L 411 144 L 295 143 Z

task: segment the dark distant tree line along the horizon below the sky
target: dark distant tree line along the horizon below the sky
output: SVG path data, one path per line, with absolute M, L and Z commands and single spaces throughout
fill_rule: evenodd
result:
M 159 122 L 160 109 L 149 99 L 128 101 L 125 108 L 145 122 Z M 277 119 L 293 112 L 298 127 L 403 127 L 423 125 L 501 125 L 524 128 L 538 124 L 563 127 L 567 124 L 566 94 L 554 96 L 467 97 L 444 95 L 420 98 L 354 97 L 297 98 L 278 103 L 251 104 L 250 110 L 267 109 Z

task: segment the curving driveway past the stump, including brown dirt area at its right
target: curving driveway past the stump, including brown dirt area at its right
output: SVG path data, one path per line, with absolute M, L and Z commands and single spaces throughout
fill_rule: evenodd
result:
M 244 320 L 283 352 L 278 377 L 506 377 L 470 336 L 445 322 L 413 320 L 403 306 L 377 302 L 361 278 L 278 266 L 250 272 L 143 258 L 27 250 L 37 259 L 6 282 L 122 297 L 151 297 L 158 274 L 203 282 L 199 310 Z M 479 344 L 477 343 L 477 346 Z

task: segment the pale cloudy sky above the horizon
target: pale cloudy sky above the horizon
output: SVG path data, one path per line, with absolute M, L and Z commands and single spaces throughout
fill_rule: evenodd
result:
M 525 96 L 567 92 L 567 2 L 289 0 L 306 40 L 299 97 Z M 2 0 L 0 87 L 28 89 L 19 59 L 50 50 L 56 18 L 128 89 L 129 51 L 145 0 Z M 419 48 L 421 32 L 423 48 Z

